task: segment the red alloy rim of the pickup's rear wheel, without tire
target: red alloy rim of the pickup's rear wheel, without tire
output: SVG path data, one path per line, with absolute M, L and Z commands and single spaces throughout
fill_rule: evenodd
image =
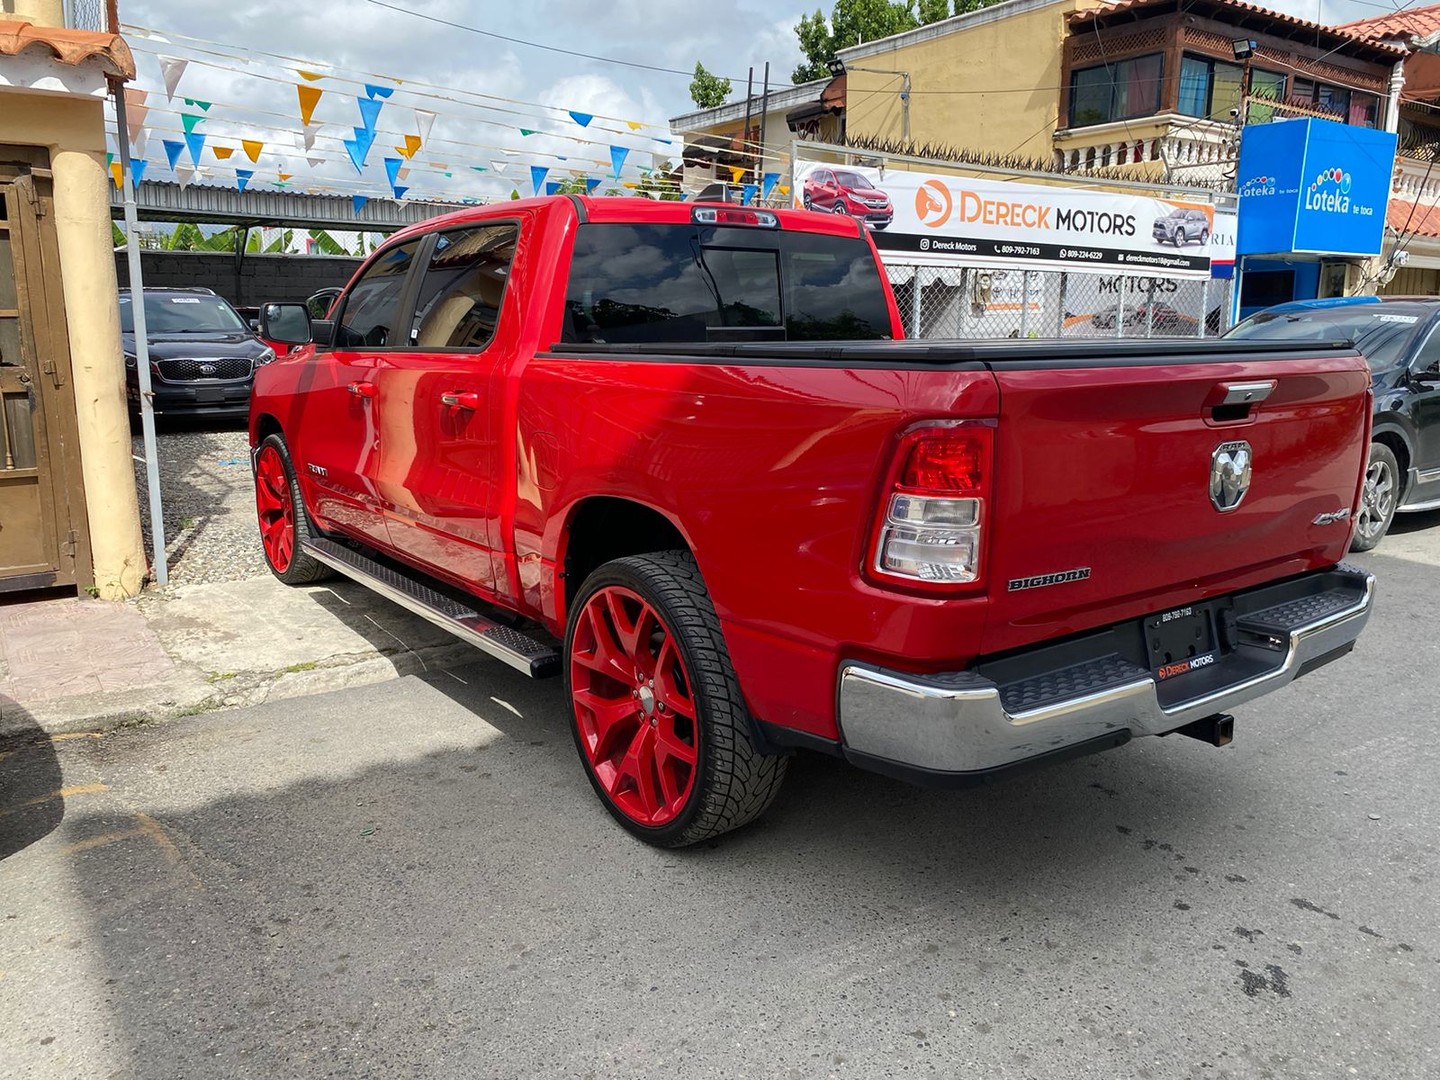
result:
M 621 585 L 585 602 L 570 647 L 580 749 L 611 802 L 639 825 L 668 825 L 700 768 L 698 719 L 675 635 Z

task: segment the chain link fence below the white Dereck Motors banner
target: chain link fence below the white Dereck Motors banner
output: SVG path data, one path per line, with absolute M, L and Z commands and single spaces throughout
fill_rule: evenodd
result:
M 906 337 L 1218 337 L 1230 281 L 887 261 Z

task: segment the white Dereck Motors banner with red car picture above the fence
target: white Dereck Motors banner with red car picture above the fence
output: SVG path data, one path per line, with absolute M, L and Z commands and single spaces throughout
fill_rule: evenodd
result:
M 1208 278 L 1215 253 L 1205 202 L 821 163 L 795 166 L 793 199 L 861 220 L 900 264 Z

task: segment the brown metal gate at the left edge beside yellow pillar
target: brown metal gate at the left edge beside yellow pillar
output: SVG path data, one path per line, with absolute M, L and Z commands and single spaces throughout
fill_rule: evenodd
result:
M 0 592 L 91 583 L 48 163 L 0 147 Z

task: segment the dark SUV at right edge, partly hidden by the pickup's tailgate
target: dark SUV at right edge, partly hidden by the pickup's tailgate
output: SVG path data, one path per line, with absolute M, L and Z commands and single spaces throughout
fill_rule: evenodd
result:
M 1378 544 L 1397 510 L 1440 508 L 1440 298 L 1297 300 L 1251 315 L 1225 337 L 1346 340 L 1369 361 L 1375 423 L 1351 550 Z

